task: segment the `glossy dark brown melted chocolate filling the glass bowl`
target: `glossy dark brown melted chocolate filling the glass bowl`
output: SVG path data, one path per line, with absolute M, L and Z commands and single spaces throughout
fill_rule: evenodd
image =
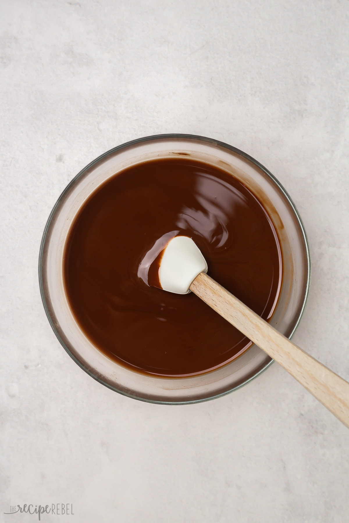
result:
M 208 274 L 257 314 L 268 319 L 276 305 L 279 242 L 247 187 L 189 158 L 125 169 L 89 197 L 74 221 L 64 280 L 86 336 L 133 370 L 198 374 L 251 345 L 194 293 L 150 286 L 162 250 L 177 234 L 192 237 L 207 260 Z

